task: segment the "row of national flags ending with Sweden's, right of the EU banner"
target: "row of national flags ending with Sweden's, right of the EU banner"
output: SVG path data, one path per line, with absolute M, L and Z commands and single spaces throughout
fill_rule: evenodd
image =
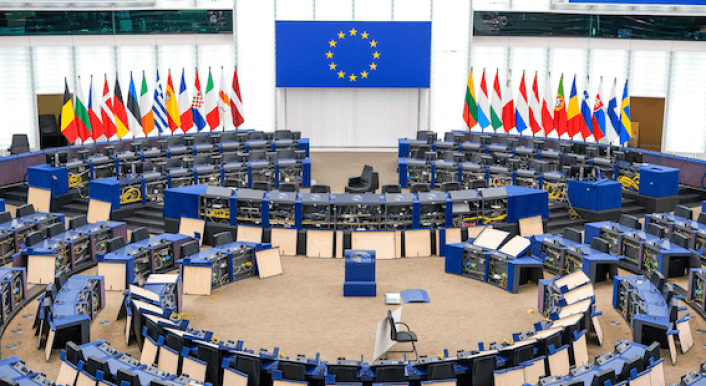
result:
M 578 139 L 578 135 L 580 135 L 584 141 L 613 142 L 618 139 L 620 144 L 625 144 L 632 138 L 627 80 L 620 103 L 618 103 L 616 96 L 617 79 L 613 81 L 606 106 L 603 102 L 605 99 L 603 98 L 603 78 L 601 77 L 593 106 L 591 106 L 588 77 L 586 77 L 583 93 L 579 94 L 576 87 L 576 75 L 574 75 L 571 93 L 567 101 L 564 97 L 564 74 L 561 75 L 556 94 L 551 89 L 551 73 L 547 74 L 544 95 L 540 97 L 537 73 L 534 74 L 532 88 L 528 89 L 523 72 L 517 98 L 513 98 L 511 72 L 508 71 L 504 91 L 501 90 L 499 72 L 498 70 L 495 73 L 493 88 L 488 90 L 485 69 L 483 69 L 480 89 L 476 94 L 473 85 L 473 69 L 471 68 L 463 108 L 463 120 L 469 130 L 476 125 L 483 131 L 502 129 L 507 133 L 512 129 L 517 130 L 518 133 L 529 129 L 534 136 L 546 137 L 555 132 L 559 138 Z

